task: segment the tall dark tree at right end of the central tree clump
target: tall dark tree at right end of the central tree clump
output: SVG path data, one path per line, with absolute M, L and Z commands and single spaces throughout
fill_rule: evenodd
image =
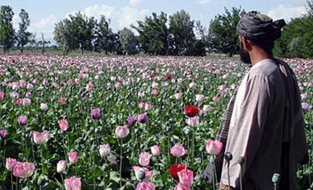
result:
M 194 21 L 185 10 L 169 16 L 169 48 L 174 55 L 192 55 L 195 43 Z

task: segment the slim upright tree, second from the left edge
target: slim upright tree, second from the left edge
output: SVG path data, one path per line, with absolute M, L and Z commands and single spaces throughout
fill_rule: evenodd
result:
M 27 27 L 30 26 L 31 20 L 28 16 L 28 13 L 22 8 L 20 12 L 20 18 L 21 22 L 19 23 L 19 31 L 17 33 L 17 41 L 18 41 L 18 47 L 23 53 L 24 45 L 26 45 L 29 40 L 30 36 L 32 35 L 31 32 L 26 31 Z

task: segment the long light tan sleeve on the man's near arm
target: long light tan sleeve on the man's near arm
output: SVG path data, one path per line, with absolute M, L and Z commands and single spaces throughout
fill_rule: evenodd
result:
M 226 144 L 226 152 L 229 151 L 233 154 L 230 162 L 230 181 L 231 186 L 235 188 L 239 185 L 241 170 L 240 164 L 237 163 L 237 157 L 245 157 L 244 176 L 258 150 L 271 102 L 271 88 L 267 76 L 260 73 L 248 75 L 246 83 L 243 85 L 244 92 L 242 92 L 243 95 L 238 105 L 240 107 L 237 109 L 238 113 L 233 114 L 236 118 L 234 118 L 233 125 L 230 126 Z M 224 161 L 221 177 L 221 182 L 224 184 L 228 184 L 227 170 L 227 163 Z

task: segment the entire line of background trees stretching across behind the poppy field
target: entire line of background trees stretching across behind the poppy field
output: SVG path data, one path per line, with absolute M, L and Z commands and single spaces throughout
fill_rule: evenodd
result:
M 293 18 L 282 30 L 282 36 L 275 43 L 274 54 L 281 57 L 313 57 L 313 0 L 306 1 L 306 14 Z M 135 35 L 130 28 L 114 32 L 110 19 L 101 15 L 97 20 L 78 12 L 55 24 L 54 40 L 64 54 L 80 49 L 114 54 L 151 55 L 205 55 L 210 52 L 225 53 L 233 56 L 238 53 L 239 39 L 236 26 L 245 14 L 241 7 L 225 8 L 225 13 L 218 14 L 210 21 L 206 29 L 190 18 L 185 10 L 172 15 L 164 12 L 146 16 L 131 24 L 138 32 Z M 36 43 L 42 47 L 49 43 L 44 39 L 36 42 L 35 35 L 27 28 L 30 26 L 28 13 L 22 9 L 19 30 L 13 28 L 14 12 L 8 5 L 0 9 L 0 45 L 5 52 L 17 44 L 23 52 L 25 45 Z

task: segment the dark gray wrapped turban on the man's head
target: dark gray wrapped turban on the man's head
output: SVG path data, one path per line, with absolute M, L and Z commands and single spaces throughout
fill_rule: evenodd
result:
M 265 14 L 251 11 L 245 14 L 237 24 L 237 33 L 248 39 L 278 39 L 281 28 L 286 25 L 284 19 L 273 21 Z

